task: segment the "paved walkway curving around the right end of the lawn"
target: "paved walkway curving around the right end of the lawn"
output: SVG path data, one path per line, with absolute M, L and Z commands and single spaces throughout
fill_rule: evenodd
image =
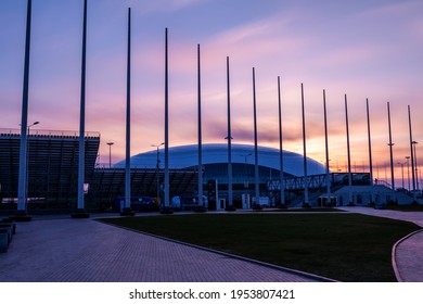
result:
M 354 213 L 407 220 L 423 228 L 422 212 L 398 212 L 357 206 L 339 208 Z M 393 264 L 396 267 L 399 281 L 423 282 L 423 230 L 397 243 L 393 252 Z

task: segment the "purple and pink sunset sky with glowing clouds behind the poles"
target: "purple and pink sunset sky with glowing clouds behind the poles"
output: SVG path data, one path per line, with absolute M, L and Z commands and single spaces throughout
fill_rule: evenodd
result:
M 18 128 L 26 0 L 0 1 L 0 128 Z M 82 0 L 33 0 L 28 123 L 31 131 L 79 128 Z M 131 154 L 164 140 L 164 35 L 169 30 L 169 144 L 196 143 L 196 45 L 202 48 L 204 142 L 227 136 L 226 58 L 231 63 L 232 137 L 253 143 L 252 67 L 258 142 L 279 147 L 277 77 L 282 81 L 284 149 L 303 153 L 304 83 L 308 156 L 324 160 L 326 90 L 331 168 L 345 169 L 344 94 L 352 166 L 368 170 L 370 101 L 375 177 L 410 154 L 411 105 L 423 162 L 423 1 L 421 0 L 89 0 L 86 130 L 101 132 L 100 162 L 125 155 L 127 10 L 132 8 Z M 422 152 L 420 152 L 422 151 Z M 420 161 L 419 161 L 420 162 Z M 389 173 L 388 173 L 389 175 Z M 398 185 L 397 185 L 398 186 Z

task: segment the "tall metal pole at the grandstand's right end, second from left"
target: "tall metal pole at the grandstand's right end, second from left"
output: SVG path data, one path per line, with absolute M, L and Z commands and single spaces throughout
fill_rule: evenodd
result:
M 84 1 L 84 29 L 82 29 L 82 63 L 80 85 L 80 117 L 79 117 L 79 159 L 78 159 L 78 210 L 84 210 L 84 181 L 86 162 L 86 53 L 87 53 L 87 0 Z

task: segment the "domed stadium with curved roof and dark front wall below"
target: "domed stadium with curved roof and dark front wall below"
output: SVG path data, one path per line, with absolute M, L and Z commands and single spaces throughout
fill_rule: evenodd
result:
M 258 180 L 261 197 L 268 195 L 269 180 L 280 179 L 280 152 L 278 149 L 258 147 Z M 233 202 L 240 206 L 242 195 L 251 198 L 255 193 L 255 154 L 254 145 L 232 144 L 232 191 Z M 198 172 L 198 147 L 196 144 L 172 147 L 168 150 L 169 169 L 193 169 Z M 285 178 L 304 176 L 304 157 L 302 154 L 283 151 L 283 170 Z M 151 169 L 163 172 L 165 155 L 163 149 L 137 154 L 130 159 L 131 169 Z M 206 143 L 202 147 L 202 170 L 205 195 L 214 190 L 210 182 L 217 185 L 219 199 L 228 198 L 228 145 L 225 143 Z M 114 165 L 124 168 L 125 160 Z M 325 174 L 325 167 L 315 160 L 307 159 L 307 174 Z M 215 187 L 215 186 L 213 186 Z M 192 193 L 192 200 L 197 195 Z M 248 197 L 248 200 L 249 200 Z M 273 203 L 278 198 L 273 198 Z M 269 204 L 272 204 L 270 202 Z

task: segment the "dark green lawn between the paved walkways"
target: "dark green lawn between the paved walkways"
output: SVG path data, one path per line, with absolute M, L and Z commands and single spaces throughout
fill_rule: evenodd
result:
M 396 281 L 392 248 L 414 224 L 358 214 L 192 214 L 104 223 L 341 281 Z

